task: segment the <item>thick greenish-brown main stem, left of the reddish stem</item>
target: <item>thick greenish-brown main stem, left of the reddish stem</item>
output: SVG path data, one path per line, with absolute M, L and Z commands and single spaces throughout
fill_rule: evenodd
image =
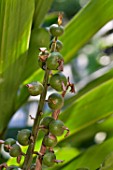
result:
M 32 155 L 33 155 L 33 151 L 34 151 L 34 147 L 35 147 L 35 143 L 37 140 L 37 136 L 38 136 L 38 131 L 39 131 L 39 124 L 40 124 L 40 120 L 41 120 L 41 114 L 43 111 L 43 107 L 44 107 L 44 103 L 45 103 L 45 98 L 46 98 L 46 93 L 47 93 L 47 87 L 48 87 L 48 79 L 49 79 L 49 70 L 45 70 L 45 75 L 44 75 L 44 80 L 43 80 L 43 86 L 44 86 L 44 91 L 40 96 L 40 101 L 39 101 L 39 105 L 38 105 L 38 110 L 37 110 L 37 114 L 36 114 L 36 118 L 34 121 L 34 125 L 32 128 L 32 137 L 33 139 L 30 140 L 30 144 L 25 156 L 25 160 L 23 163 L 23 170 L 29 170 L 31 163 L 32 163 Z

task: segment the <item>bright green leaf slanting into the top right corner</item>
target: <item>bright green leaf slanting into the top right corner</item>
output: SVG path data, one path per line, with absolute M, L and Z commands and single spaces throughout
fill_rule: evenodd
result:
M 108 21 L 113 19 L 112 0 L 92 0 L 68 23 L 61 37 L 65 62 L 75 57 L 76 52 Z

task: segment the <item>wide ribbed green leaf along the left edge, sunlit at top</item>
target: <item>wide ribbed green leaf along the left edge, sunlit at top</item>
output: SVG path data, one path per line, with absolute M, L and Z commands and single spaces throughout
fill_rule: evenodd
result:
M 34 0 L 1 0 L 0 10 L 2 21 L 0 24 L 1 134 L 13 114 L 15 96 L 25 68 L 25 60 L 21 65 L 20 63 L 14 65 L 14 63 L 20 55 L 26 56 L 29 47 Z

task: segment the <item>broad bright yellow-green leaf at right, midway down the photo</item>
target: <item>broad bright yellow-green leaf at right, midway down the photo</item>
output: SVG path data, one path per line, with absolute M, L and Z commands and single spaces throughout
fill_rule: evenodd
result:
M 75 100 L 62 114 L 71 133 L 78 132 L 113 113 L 113 79 Z

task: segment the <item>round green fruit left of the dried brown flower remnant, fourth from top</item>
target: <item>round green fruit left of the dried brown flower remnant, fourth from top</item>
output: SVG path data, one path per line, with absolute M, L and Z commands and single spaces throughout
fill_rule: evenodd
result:
M 54 74 L 50 78 L 50 85 L 53 89 L 57 91 L 63 91 L 63 86 L 66 87 L 67 85 L 67 78 L 62 73 Z

